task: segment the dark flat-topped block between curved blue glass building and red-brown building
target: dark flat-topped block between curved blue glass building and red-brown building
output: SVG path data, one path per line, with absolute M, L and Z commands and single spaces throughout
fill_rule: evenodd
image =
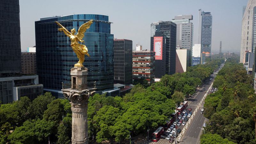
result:
M 132 84 L 132 40 L 114 40 L 114 83 Z

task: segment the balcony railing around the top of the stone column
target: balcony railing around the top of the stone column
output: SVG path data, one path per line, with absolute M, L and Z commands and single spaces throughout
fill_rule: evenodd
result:
M 86 84 L 72 84 L 72 83 L 63 83 L 62 82 L 62 89 L 67 90 L 74 90 L 74 91 L 83 91 L 87 89 L 94 89 L 96 88 L 96 82 L 87 82 Z

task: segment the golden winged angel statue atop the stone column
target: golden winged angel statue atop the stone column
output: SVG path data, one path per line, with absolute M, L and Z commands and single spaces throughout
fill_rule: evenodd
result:
M 84 44 L 79 44 L 78 42 L 84 43 L 83 37 L 86 29 L 90 28 L 92 24 L 92 20 L 84 23 L 81 25 L 81 27 L 78 29 L 78 33 L 76 33 L 76 29 L 73 28 L 71 29 L 71 33 L 63 27 L 59 22 L 55 21 L 60 28 L 58 29 L 59 31 L 63 31 L 68 37 L 70 37 L 71 44 L 70 46 L 72 47 L 73 51 L 76 53 L 77 58 L 79 61 L 74 65 L 75 67 L 83 67 L 83 62 L 84 62 L 84 55 L 86 54 L 88 57 L 90 57 L 88 53 L 88 49 Z

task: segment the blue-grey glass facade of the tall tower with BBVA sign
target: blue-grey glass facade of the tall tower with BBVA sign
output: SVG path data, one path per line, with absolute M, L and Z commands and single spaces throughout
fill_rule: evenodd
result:
M 212 49 L 212 15 L 211 12 L 202 12 L 202 30 L 201 30 L 201 53 L 210 52 Z

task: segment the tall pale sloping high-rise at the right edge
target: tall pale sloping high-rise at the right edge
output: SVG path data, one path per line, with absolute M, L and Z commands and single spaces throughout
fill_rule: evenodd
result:
M 244 8 L 243 8 L 244 9 Z M 256 0 L 248 0 L 242 19 L 240 62 L 248 62 L 248 52 L 255 52 Z

